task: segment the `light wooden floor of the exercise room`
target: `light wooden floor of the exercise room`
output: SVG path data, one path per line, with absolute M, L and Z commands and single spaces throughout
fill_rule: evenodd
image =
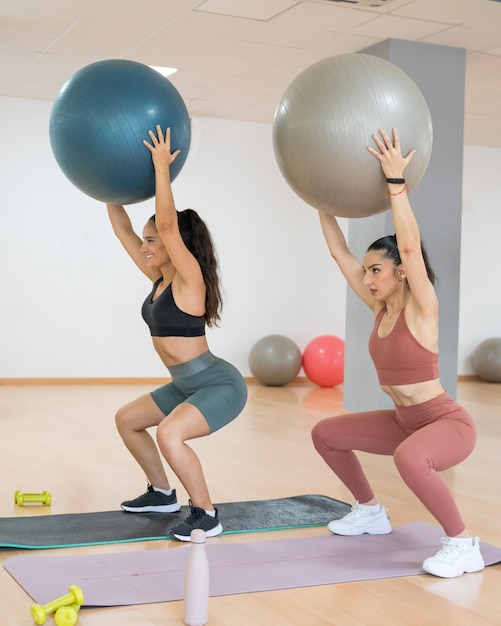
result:
M 0 516 L 107 511 L 144 491 L 145 479 L 114 426 L 116 409 L 150 385 L 0 386 Z M 501 385 L 459 383 L 458 400 L 478 427 L 475 451 L 445 473 L 468 529 L 501 545 Z M 342 407 L 342 390 L 298 382 L 282 388 L 249 385 L 249 401 L 230 426 L 194 443 L 215 502 L 317 493 L 350 501 L 313 450 L 312 426 Z M 399 478 L 391 458 L 362 455 L 394 526 L 435 523 Z M 175 477 L 182 504 L 187 497 Z M 50 509 L 14 504 L 15 490 L 52 494 Z M 224 523 L 224 520 L 223 520 Z M 228 535 L 214 543 L 325 535 L 325 528 Z M 38 554 L 90 554 L 158 549 L 144 542 Z M 438 546 L 437 546 L 438 549 Z M 23 551 L 2 550 L 5 560 Z M 33 554 L 30 552 L 30 554 Z M 68 584 L 72 584 L 69 581 Z M 65 593 L 62 590 L 62 593 Z M 61 593 L 61 595 L 62 595 Z M 422 575 L 210 599 L 211 626 L 481 626 L 501 624 L 501 565 L 444 580 Z M 0 626 L 30 626 L 32 599 L 0 569 Z M 83 609 L 80 626 L 182 624 L 182 602 Z M 50 617 L 47 624 L 53 624 Z

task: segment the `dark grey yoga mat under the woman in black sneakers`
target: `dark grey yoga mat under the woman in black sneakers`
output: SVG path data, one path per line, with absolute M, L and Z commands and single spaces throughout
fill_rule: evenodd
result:
M 321 495 L 216 504 L 224 533 L 323 526 L 351 510 Z M 71 513 L 0 518 L 0 548 L 68 548 L 166 539 L 169 529 L 189 515 L 177 513 Z

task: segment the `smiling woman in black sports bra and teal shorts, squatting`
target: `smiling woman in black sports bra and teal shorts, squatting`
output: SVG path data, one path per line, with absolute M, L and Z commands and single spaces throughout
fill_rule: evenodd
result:
M 245 381 L 230 363 L 213 355 L 205 325 L 220 319 L 221 295 L 216 254 L 207 226 L 196 211 L 177 211 L 169 166 L 170 129 L 148 131 L 145 149 L 155 169 L 155 215 L 141 239 L 124 207 L 108 204 L 113 231 L 139 269 L 152 281 L 142 315 L 153 346 L 172 381 L 120 408 L 117 428 L 148 481 L 146 493 L 121 504 L 129 512 L 174 513 L 181 507 L 162 457 L 189 495 L 190 515 L 170 533 L 189 541 L 201 528 L 208 537 L 222 532 L 200 460 L 186 441 L 222 428 L 242 411 Z M 157 427 L 156 442 L 148 428 Z

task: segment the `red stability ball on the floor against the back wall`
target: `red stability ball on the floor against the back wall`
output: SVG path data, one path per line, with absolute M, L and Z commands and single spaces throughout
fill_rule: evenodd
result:
M 303 370 L 319 387 L 335 387 L 344 380 L 344 341 L 334 335 L 321 335 L 306 346 Z

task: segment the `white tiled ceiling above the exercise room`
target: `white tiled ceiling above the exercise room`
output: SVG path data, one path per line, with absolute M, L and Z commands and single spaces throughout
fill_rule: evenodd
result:
M 271 124 L 303 69 L 389 38 L 466 49 L 464 141 L 501 147 L 501 0 L 2 0 L 0 95 L 124 58 L 178 68 L 194 117 Z

